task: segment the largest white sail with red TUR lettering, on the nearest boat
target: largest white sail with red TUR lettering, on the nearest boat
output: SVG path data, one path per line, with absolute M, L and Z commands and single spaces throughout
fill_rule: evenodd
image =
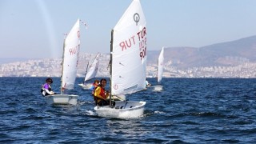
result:
M 146 18 L 134 0 L 112 31 L 111 94 L 131 94 L 145 89 Z

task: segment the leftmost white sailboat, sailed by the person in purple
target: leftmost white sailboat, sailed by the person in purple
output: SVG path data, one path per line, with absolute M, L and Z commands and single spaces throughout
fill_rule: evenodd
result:
M 80 20 L 78 19 L 63 42 L 61 94 L 47 95 L 45 98 L 48 104 L 76 105 L 78 103 L 78 95 L 63 93 L 65 90 L 74 89 L 74 81 L 78 69 L 79 49 Z

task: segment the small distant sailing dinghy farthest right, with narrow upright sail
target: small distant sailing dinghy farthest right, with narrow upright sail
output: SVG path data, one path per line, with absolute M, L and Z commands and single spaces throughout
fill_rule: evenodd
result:
M 162 50 L 159 54 L 158 57 L 158 83 L 162 81 L 162 73 L 163 73 L 163 66 L 164 66 L 164 47 L 162 47 Z M 154 91 L 161 91 L 162 90 L 162 85 L 158 86 L 147 86 L 146 88 L 153 89 Z

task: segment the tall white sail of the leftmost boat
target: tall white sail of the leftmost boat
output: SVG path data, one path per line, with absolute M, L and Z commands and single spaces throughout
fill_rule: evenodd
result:
M 80 49 L 80 20 L 74 24 L 66 36 L 62 60 L 62 89 L 74 89 L 74 81 L 78 69 Z

